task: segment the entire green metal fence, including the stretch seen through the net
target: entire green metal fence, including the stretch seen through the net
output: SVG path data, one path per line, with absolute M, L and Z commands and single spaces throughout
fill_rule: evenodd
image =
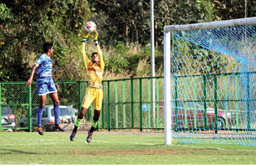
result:
M 185 128 L 188 126 L 189 110 L 194 110 L 196 116 L 196 108 L 187 108 L 187 103 L 203 102 L 204 104 L 204 126 L 203 129 L 217 129 L 217 110 L 223 109 L 226 117 L 228 112 L 232 111 L 231 121 L 229 124 L 225 119 L 225 129 L 232 128 L 236 130 L 250 129 L 254 130 L 256 123 L 253 119 L 256 117 L 256 112 L 253 110 L 255 105 L 254 95 L 243 101 L 238 99 L 238 88 L 243 88 L 252 94 L 254 89 L 250 87 L 239 87 L 238 79 L 242 75 L 248 78 L 253 73 L 233 73 L 232 75 L 193 75 L 193 76 L 176 76 L 172 78 L 173 90 L 172 99 L 175 100 L 172 105 L 172 118 L 179 119 L 179 116 L 184 116 L 182 122 L 173 121 L 173 128 L 180 128 L 179 123 L 183 123 Z M 208 78 L 207 78 L 208 77 Z M 151 79 L 155 81 L 156 101 L 153 103 L 155 112 L 151 112 Z M 185 80 L 183 80 L 185 79 Z M 197 79 L 199 84 L 193 83 Z M 190 86 L 187 82 L 190 81 Z M 206 86 L 207 81 L 207 86 Z M 181 84 L 181 82 L 185 82 Z M 58 91 L 60 105 L 72 105 L 78 111 L 81 109 L 81 103 L 85 94 L 85 89 L 88 86 L 87 81 L 57 81 L 60 86 Z M 218 84 L 217 84 L 218 83 Z M 250 83 L 253 84 L 253 83 Z M 16 124 L 14 129 L 25 129 L 31 131 L 35 127 L 32 117 L 35 115 L 33 110 L 39 105 L 39 98 L 36 90 L 36 83 L 33 82 L 29 88 L 25 87 L 26 82 L 0 82 L 0 116 L 2 110 L 10 108 L 16 116 Z M 227 86 L 228 85 L 228 86 Z M 228 88 L 229 87 L 229 88 Z M 183 89 L 183 90 L 179 90 Z M 184 90 L 185 89 L 185 90 Z M 221 91 L 220 91 L 221 90 Z M 195 92 L 201 94 L 195 94 Z M 251 92 L 252 91 L 252 92 Z M 98 127 L 102 129 L 164 129 L 164 78 L 163 77 L 144 77 L 144 78 L 129 78 L 103 81 L 104 98 L 102 102 L 101 116 Z M 250 95 L 251 96 L 251 95 Z M 183 98 L 185 102 L 184 115 L 179 115 L 177 99 Z M 250 105 L 249 105 L 250 102 Z M 248 109 L 241 108 L 239 103 L 246 103 Z M 52 104 L 50 97 L 47 95 L 46 105 Z M 214 109 L 214 122 L 207 122 L 207 106 Z M 243 104 L 244 105 L 244 104 Z M 145 108 L 145 106 L 147 106 Z M 223 107 L 224 106 L 224 107 Z M 252 108 L 253 107 L 253 108 Z M 232 109 L 232 110 L 231 110 Z M 153 116 L 152 113 L 155 115 Z M 22 124 L 22 118 L 27 117 L 27 125 Z M 85 119 L 91 121 L 93 117 L 93 105 L 87 110 Z M 155 119 L 152 120 L 152 118 Z M 189 117 L 191 120 L 191 117 Z M 194 129 L 197 128 L 198 117 L 193 117 Z M 244 121 L 243 123 L 242 120 Z M 153 124 L 152 124 L 153 123 Z M 212 123 L 213 128 L 209 128 L 209 123 Z M 13 127 L 13 126 L 12 126 Z M 0 129 L 9 129 L 1 120 Z

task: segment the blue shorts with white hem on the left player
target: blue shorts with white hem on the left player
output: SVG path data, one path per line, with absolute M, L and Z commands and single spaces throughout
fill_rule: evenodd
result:
M 57 92 L 52 77 L 40 77 L 36 78 L 37 93 L 39 96 L 43 96 L 50 93 Z

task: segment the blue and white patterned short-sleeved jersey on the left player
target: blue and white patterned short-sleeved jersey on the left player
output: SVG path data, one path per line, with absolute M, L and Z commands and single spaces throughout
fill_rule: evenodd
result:
M 35 63 L 37 67 L 37 78 L 52 77 L 52 59 L 45 54 L 40 55 Z

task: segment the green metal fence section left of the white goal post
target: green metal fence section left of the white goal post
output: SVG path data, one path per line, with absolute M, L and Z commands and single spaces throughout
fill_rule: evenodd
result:
M 150 111 L 151 79 L 156 82 L 156 119 L 152 127 Z M 80 110 L 84 98 L 87 81 L 56 81 L 60 89 L 58 91 L 60 105 L 72 105 Z M 16 116 L 14 130 L 29 130 L 35 128 L 32 122 L 33 110 L 39 105 L 36 82 L 29 88 L 26 82 L 0 82 L 0 115 L 4 107 L 9 107 Z M 163 129 L 164 110 L 159 107 L 159 102 L 164 100 L 163 77 L 130 78 L 103 81 L 104 98 L 102 103 L 99 128 L 104 129 Z M 148 104 L 148 109 L 142 111 L 142 105 Z M 47 95 L 46 105 L 52 105 Z M 149 111 L 148 111 L 149 110 Z M 161 114 L 159 113 L 161 111 Z M 28 123 L 24 126 L 22 118 L 27 117 Z M 87 110 L 85 118 L 91 121 L 93 117 L 93 104 Z M 3 124 L 3 122 L 1 123 Z M 0 129 L 9 129 L 0 124 Z

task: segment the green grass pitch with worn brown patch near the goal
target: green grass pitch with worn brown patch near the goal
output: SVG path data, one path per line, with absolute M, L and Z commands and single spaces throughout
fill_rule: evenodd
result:
M 256 164 L 256 148 L 240 145 L 164 145 L 163 132 L 0 132 L 2 164 Z

